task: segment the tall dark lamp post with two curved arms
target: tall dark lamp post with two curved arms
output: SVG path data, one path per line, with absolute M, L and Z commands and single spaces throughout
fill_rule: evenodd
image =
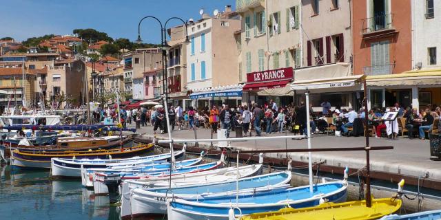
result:
M 170 45 L 167 44 L 167 23 L 169 21 L 171 21 L 172 19 L 178 19 L 179 21 L 182 21 L 182 23 L 185 25 L 185 42 L 188 42 L 188 34 L 187 34 L 187 22 L 185 22 L 183 19 L 180 19 L 178 17 L 171 17 L 170 19 L 167 19 L 167 21 L 165 21 L 165 25 L 163 25 L 161 23 L 161 21 L 159 21 L 159 19 L 157 19 L 156 17 L 153 16 L 146 16 L 143 17 L 139 23 L 138 23 L 138 39 L 136 39 L 136 43 L 142 43 L 143 41 L 141 40 L 141 22 L 144 19 L 155 19 L 156 21 L 158 21 L 159 25 L 161 25 L 161 50 L 162 50 L 162 62 L 163 62 L 163 95 L 165 95 L 165 99 L 163 100 L 163 104 L 167 104 L 167 100 L 168 100 L 168 91 L 166 91 L 165 85 L 167 85 L 168 87 L 168 77 L 166 74 L 167 72 L 167 51 L 170 50 Z

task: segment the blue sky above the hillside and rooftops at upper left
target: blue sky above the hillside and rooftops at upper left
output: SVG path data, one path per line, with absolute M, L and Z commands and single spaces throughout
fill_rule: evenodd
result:
M 23 41 L 44 34 L 72 34 L 76 28 L 94 28 L 112 38 L 136 40 L 138 22 L 155 16 L 165 22 L 170 17 L 200 19 L 199 10 L 212 15 L 225 5 L 235 8 L 235 0 L 13 0 L 2 1 L 0 38 L 11 36 Z M 167 28 L 178 25 L 170 21 Z M 159 25 L 145 19 L 141 37 L 145 43 L 160 43 Z

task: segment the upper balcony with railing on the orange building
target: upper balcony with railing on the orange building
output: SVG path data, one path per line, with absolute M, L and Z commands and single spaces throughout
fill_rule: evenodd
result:
M 396 32 L 392 25 L 393 14 L 384 14 L 363 19 L 361 34 L 363 38 Z

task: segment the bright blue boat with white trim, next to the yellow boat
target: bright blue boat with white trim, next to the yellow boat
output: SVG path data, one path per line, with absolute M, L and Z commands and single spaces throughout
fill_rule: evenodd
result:
M 278 188 L 267 192 L 245 192 L 237 195 L 207 196 L 202 199 L 167 199 L 169 219 L 227 220 L 256 212 L 280 210 L 287 206 L 304 208 L 320 201 L 343 202 L 347 199 L 347 181 L 333 181 L 296 188 Z

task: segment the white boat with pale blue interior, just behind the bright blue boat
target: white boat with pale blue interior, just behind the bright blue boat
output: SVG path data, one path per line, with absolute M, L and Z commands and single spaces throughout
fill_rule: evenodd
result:
M 239 179 L 237 183 L 238 186 L 236 186 L 236 179 L 214 184 L 181 186 L 172 188 L 168 195 L 168 187 L 149 189 L 136 188 L 130 193 L 131 215 L 135 217 L 140 214 L 166 214 L 166 199 L 167 197 L 172 198 L 172 194 L 173 197 L 194 200 L 203 199 L 203 197 L 207 195 L 232 195 L 236 193 L 236 187 L 238 187 L 240 193 L 257 193 L 279 187 L 289 187 L 289 181 L 291 181 L 291 171 L 242 178 Z M 125 208 L 124 205 L 125 203 L 121 204 L 121 209 Z

